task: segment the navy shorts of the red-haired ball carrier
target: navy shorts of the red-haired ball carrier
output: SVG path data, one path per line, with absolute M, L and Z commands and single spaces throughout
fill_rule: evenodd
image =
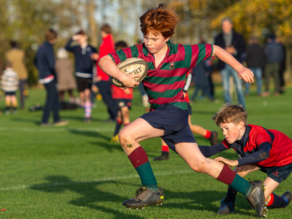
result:
M 164 130 L 164 135 L 161 138 L 174 152 L 176 152 L 175 143 L 197 143 L 189 125 L 188 110 L 166 103 L 143 114 L 140 118 L 146 120 L 153 128 Z

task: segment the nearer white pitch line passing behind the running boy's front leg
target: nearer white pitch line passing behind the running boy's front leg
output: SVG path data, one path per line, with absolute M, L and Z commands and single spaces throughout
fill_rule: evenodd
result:
M 164 172 L 155 174 L 156 176 L 164 176 L 164 175 L 173 175 L 173 174 L 185 174 L 185 173 L 192 173 L 193 170 L 183 170 L 183 171 L 174 171 L 174 172 Z M 20 185 L 14 187 L 2 187 L 0 191 L 7 191 L 7 190 L 20 190 L 20 189 L 29 189 L 29 188 L 44 188 L 44 187 L 54 187 L 54 186 L 63 186 L 63 185 L 73 185 L 73 184 L 82 184 L 82 183 L 99 183 L 99 182 L 106 182 L 106 181 L 114 181 L 114 180 L 126 180 L 132 178 L 139 178 L 139 175 L 128 175 L 128 176 L 116 176 L 116 177 L 108 177 L 108 178 L 100 178 L 91 181 L 70 181 L 70 182 L 56 182 L 56 183 L 41 183 L 39 185 Z

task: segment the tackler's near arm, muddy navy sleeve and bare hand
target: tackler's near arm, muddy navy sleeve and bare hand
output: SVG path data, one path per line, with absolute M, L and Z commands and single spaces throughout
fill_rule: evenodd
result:
M 269 158 L 270 149 L 271 149 L 271 144 L 269 142 L 265 142 L 258 147 L 258 151 L 252 154 L 249 154 L 246 157 L 242 157 L 237 160 L 228 160 L 228 159 L 225 159 L 224 157 L 217 157 L 214 160 L 221 161 L 227 164 L 227 166 L 229 167 L 243 166 L 246 164 L 255 164 Z

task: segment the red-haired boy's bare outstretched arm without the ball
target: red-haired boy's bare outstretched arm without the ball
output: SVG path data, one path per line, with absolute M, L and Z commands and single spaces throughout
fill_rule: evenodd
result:
M 230 53 L 225 51 L 220 46 L 213 45 L 212 56 L 219 58 L 221 61 L 225 62 L 226 64 L 234 68 L 234 70 L 237 71 L 239 79 L 243 79 L 245 82 L 248 82 L 248 83 L 254 82 L 253 72 L 249 70 L 248 68 L 245 68 Z

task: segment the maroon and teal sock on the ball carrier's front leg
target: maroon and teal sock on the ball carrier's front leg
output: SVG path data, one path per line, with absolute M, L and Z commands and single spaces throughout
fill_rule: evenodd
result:
M 153 192 L 158 192 L 157 181 L 145 150 L 142 147 L 137 147 L 128 155 L 128 158 L 138 172 L 142 185 L 148 187 Z

